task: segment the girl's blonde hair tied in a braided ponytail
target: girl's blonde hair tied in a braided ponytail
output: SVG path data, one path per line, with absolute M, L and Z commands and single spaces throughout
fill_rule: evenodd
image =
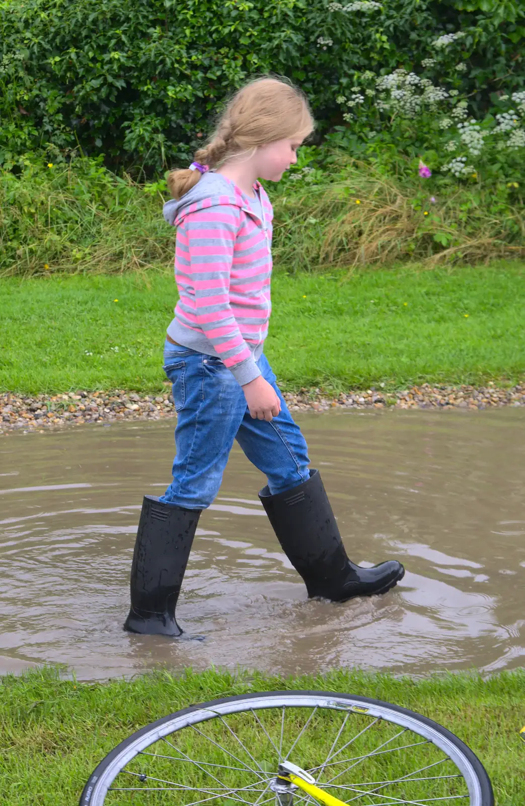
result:
M 250 154 L 258 146 L 312 134 L 315 122 L 308 98 L 284 77 L 263 76 L 249 81 L 229 99 L 208 142 L 195 160 L 219 168 L 226 160 Z M 248 157 L 249 158 L 249 157 Z M 200 180 L 198 170 L 180 168 L 169 173 L 167 185 L 180 199 Z

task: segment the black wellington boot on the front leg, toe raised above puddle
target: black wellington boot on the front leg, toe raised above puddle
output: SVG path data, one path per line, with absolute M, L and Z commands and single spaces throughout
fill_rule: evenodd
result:
M 345 601 L 386 593 L 403 578 L 405 569 L 394 559 L 373 568 L 350 562 L 319 471 L 311 470 L 308 481 L 287 492 L 271 496 L 264 487 L 258 496 L 308 596 Z

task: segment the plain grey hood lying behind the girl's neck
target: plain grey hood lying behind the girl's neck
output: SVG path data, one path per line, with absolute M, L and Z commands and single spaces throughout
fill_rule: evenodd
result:
M 260 182 L 254 182 L 254 189 L 262 189 Z M 261 194 L 262 195 L 262 194 Z M 195 213 L 203 207 L 214 207 L 217 205 L 234 205 L 241 207 L 250 213 L 256 221 L 261 223 L 258 214 L 254 212 L 250 204 L 250 197 L 235 185 L 235 183 L 221 173 L 206 171 L 200 180 L 193 185 L 188 193 L 180 199 L 171 199 L 163 206 L 164 220 L 172 226 L 179 226 L 188 213 Z

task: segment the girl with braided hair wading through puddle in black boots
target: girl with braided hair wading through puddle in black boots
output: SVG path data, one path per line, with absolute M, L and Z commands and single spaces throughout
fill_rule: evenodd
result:
M 278 182 L 313 131 L 308 99 L 290 82 L 258 78 L 234 95 L 196 162 L 173 171 L 163 208 L 177 227 L 180 299 L 167 327 L 164 371 L 177 411 L 173 481 L 145 496 L 125 629 L 180 635 L 175 608 L 200 513 L 221 484 L 237 439 L 266 474 L 259 498 L 308 596 L 344 601 L 384 593 L 395 560 L 362 568 L 346 556 L 308 448 L 263 353 L 270 318 L 271 221 L 263 185 Z

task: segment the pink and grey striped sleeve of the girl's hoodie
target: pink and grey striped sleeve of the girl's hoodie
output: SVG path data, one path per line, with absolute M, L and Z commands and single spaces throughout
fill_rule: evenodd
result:
M 229 277 L 240 211 L 232 205 L 202 208 L 184 217 L 176 238 L 180 302 L 188 324 L 198 326 L 241 386 L 261 372 L 229 305 Z

